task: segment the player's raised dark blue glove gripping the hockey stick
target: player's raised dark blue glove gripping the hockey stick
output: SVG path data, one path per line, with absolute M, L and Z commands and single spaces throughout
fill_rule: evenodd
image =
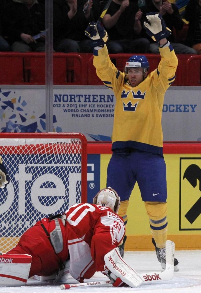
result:
M 96 24 L 94 21 L 89 23 L 85 30 L 85 35 L 92 40 L 93 47 L 105 45 L 108 41 L 108 33 L 104 27 L 100 23 Z

